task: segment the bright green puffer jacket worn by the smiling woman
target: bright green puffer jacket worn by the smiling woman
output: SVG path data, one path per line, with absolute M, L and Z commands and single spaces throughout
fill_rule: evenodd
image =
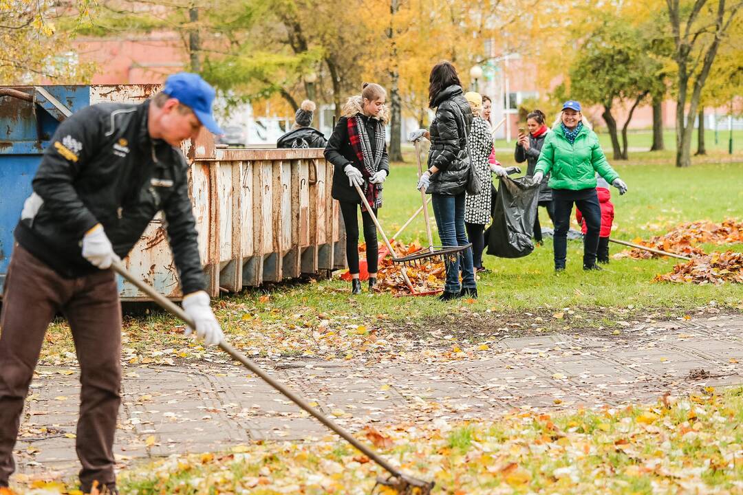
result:
M 534 169 L 535 174 L 538 171 L 545 176 L 551 174 L 549 186 L 552 189 L 595 189 L 596 172 L 609 184 L 619 177 L 606 161 L 594 131 L 584 125 L 571 145 L 565 139 L 562 125 L 558 124 L 552 130 L 554 132 L 545 137 Z

